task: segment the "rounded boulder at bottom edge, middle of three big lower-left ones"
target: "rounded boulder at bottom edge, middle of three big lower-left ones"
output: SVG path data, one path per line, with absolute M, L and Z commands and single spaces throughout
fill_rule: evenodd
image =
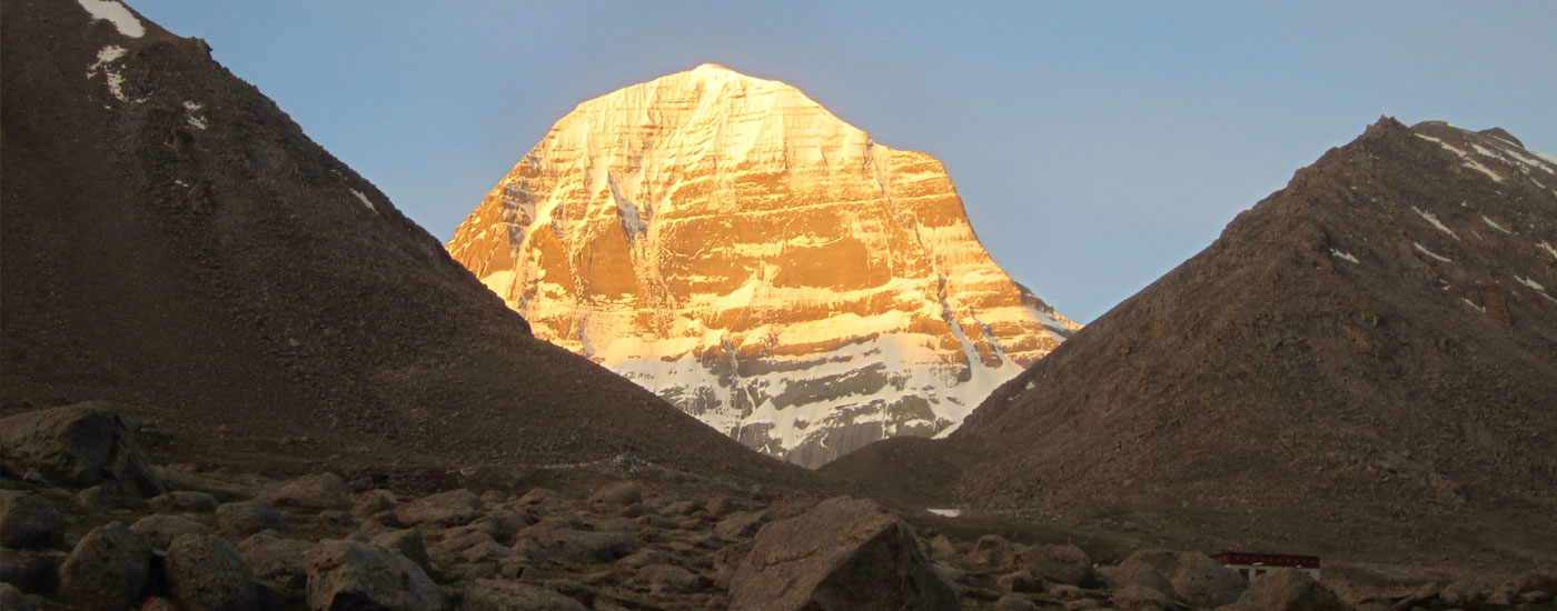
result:
M 223 538 L 182 535 L 168 546 L 168 589 L 188 611 L 258 609 L 254 572 Z

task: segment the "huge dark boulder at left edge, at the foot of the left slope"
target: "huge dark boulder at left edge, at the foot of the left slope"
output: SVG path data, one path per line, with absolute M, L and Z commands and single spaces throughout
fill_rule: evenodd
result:
M 72 488 L 109 484 L 125 494 L 156 496 L 162 484 L 114 404 L 87 401 L 0 418 L 0 468 L 37 471 Z

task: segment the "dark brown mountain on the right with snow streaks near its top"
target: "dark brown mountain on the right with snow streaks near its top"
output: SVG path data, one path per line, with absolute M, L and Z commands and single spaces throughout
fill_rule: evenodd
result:
M 948 440 L 824 473 L 1205 549 L 1551 561 L 1554 188 L 1503 129 L 1384 118 Z

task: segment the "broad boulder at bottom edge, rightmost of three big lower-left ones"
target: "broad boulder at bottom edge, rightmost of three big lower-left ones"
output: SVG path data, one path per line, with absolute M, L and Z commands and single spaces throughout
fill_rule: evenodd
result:
M 406 557 L 366 543 L 330 539 L 308 552 L 308 608 L 436 611 L 444 609 L 444 595 Z

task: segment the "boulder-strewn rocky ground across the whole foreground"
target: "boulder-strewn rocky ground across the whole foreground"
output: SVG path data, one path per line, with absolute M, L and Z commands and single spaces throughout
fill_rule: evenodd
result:
M 104 403 L 0 420 L 5 609 L 1552 608 L 1557 567 L 1247 583 L 1199 552 L 919 532 L 867 499 L 716 491 L 632 457 L 565 490 L 411 494 L 153 465 Z M 405 488 L 405 487 L 402 487 Z

